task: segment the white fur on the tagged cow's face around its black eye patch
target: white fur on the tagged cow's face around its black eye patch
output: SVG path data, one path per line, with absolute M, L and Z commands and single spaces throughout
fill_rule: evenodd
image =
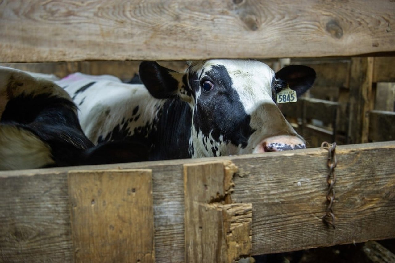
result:
M 250 116 L 249 126 L 254 132 L 248 137 L 247 145 L 244 148 L 241 145 L 231 147 L 231 144 L 228 143 L 226 147 L 222 147 L 223 155 L 252 153 L 263 139 L 275 135 L 294 135 L 301 138 L 286 121 L 273 101 L 272 81 L 275 72 L 266 64 L 255 60 L 207 60 L 189 62 L 189 65 L 190 72 L 199 76 L 198 81 L 203 79 L 209 71 L 215 71 L 218 66 L 225 68 L 232 83 L 231 88 L 237 92 L 245 113 Z M 201 88 L 199 87 L 195 92 L 196 106 L 201 100 Z M 207 99 L 205 100 L 207 101 Z M 214 100 L 214 97 L 212 100 Z M 221 101 L 218 101 L 218 103 L 221 103 Z M 198 116 L 200 113 L 194 111 L 194 114 Z M 229 114 L 232 114 L 232 112 L 229 111 Z M 209 116 L 207 117 L 209 118 Z M 238 129 L 237 127 L 234 128 Z M 196 148 L 202 143 L 201 137 L 207 136 L 207 134 L 201 135 L 199 133 L 199 127 L 196 127 L 196 129 L 193 127 L 194 132 L 192 133 L 195 155 L 199 157 L 212 156 L 213 153 L 209 147 L 203 145 L 203 148 Z M 243 137 L 241 133 L 240 137 Z

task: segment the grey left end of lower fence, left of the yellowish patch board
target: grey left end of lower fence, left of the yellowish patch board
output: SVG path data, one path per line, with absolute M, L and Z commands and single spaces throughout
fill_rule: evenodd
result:
M 67 179 L 0 177 L 0 262 L 73 262 Z

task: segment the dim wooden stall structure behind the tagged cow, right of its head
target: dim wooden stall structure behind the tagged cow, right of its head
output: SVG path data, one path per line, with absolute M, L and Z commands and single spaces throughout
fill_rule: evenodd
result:
M 292 59 L 314 68 L 314 88 L 282 111 L 310 144 L 391 141 L 395 122 L 395 57 Z M 364 105 L 363 107 L 361 107 Z

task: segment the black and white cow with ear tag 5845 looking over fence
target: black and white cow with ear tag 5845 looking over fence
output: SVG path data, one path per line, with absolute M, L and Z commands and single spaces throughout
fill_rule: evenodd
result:
M 80 73 L 58 85 L 78 105 L 94 143 L 138 140 L 150 147 L 150 160 L 305 148 L 275 95 L 287 85 L 303 94 L 314 82 L 312 68 L 275 73 L 256 60 L 204 60 L 179 73 L 142 62 L 139 75 L 144 85 Z

